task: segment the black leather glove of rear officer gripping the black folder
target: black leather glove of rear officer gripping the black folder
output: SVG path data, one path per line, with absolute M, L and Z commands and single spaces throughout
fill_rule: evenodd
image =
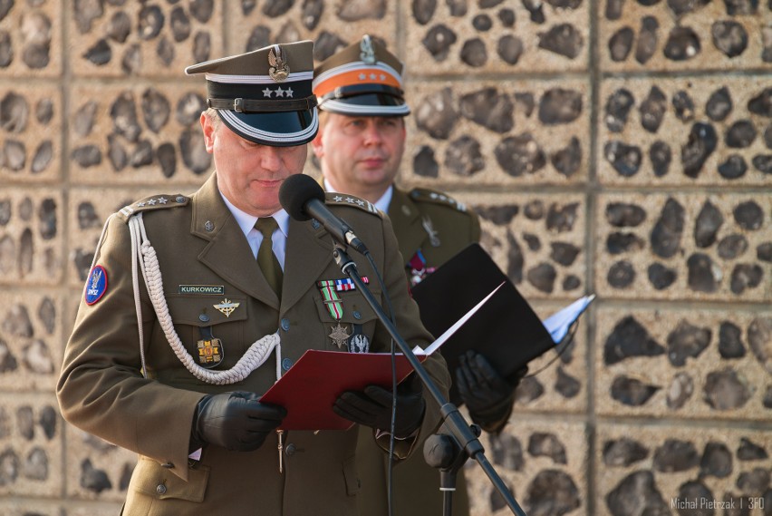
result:
M 483 430 L 499 433 L 507 424 L 515 389 L 527 374 L 524 367 L 507 379 L 499 375 L 485 356 L 468 350 L 458 357 L 456 385 L 472 421 Z

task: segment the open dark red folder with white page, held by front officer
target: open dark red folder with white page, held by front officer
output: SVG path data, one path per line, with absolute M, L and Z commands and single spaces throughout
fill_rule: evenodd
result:
M 412 351 L 418 359 L 423 362 L 442 346 L 496 294 L 498 287 L 494 286 L 487 297 L 471 307 L 426 349 L 414 347 Z M 408 359 L 401 353 L 394 355 L 394 367 L 398 382 L 412 372 Z M 346 430 L 353 423 L 335 414 L 333 404 L 343 392 L 361 391 L 367 385 L 391 389 L 391 353 L 309 349 L 263 394 L 260 401 L 285 407 L 287 416 L 280 425 L 282 430 Z

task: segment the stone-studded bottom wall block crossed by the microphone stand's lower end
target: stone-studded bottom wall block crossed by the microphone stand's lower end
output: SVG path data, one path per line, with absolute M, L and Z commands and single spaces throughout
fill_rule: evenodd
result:
M 518 420 L 518 421 L 516 421 Z M 513 420 L 498 436 L 480 437 L 486 457 L 526 514 L 588 514 L 588 441 L 582 423 Z M 478 462 L 464 465 L 471 516 L 511 514 Z

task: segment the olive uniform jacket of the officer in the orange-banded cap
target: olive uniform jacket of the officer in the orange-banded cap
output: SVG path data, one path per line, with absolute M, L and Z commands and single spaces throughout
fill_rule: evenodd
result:
M 426 260 L 426 267 L 437 268 L 480 238 L 477 215 L 456 200 L 434 190 L 414 189 L 407 192 L 394 188 L 389 205 L 389 218 L 405 264 L 420 249 Z M 434 239 L 429 234 L 431 231 L 435 232 Z M 405 272 L 408 277 L 413 276 L 409 267 L 405 268 Z M 357 465 L 362 473 L 360 515 L 387 515 L 388 461 L 379 453 L 378 447 L 372 445 L 372 441 L 361 439 L 357 447 Z M 395 516 L 443 514 L 439 471 L 424 461 L 423 443 L 420 443 L 419 453 L 414 453 L 407 461 L 396 464 L 392 474 Z M 458 472 L 456 487 L 457 491 L 453 495 L 453 514 L 468 515 L 468 494 L 463 469 Z

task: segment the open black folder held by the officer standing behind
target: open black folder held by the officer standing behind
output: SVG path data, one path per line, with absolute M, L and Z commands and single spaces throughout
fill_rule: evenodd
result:
M 478 244 L 464 248 L 412 287 L 421 321 L 432 335 L 440 336 L 502 282 L 498 292 L 442 345 L 440 352 L 454 382 L 458 356 L 468 349 L 485 355 L 507 377 L 553 349 L 555 342 L 526 299 Z M 455 385 L 450 401 L 463 403 Z

